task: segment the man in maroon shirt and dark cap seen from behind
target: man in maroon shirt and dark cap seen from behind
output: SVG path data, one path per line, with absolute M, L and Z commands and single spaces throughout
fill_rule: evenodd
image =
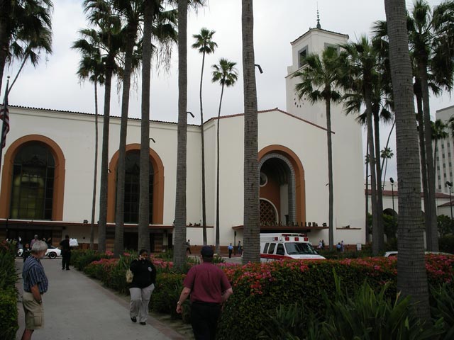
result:
M 200 254 L 203 262 L 189 269 L 184 278 L 177 313 L 182 312 L 182 303 L 190 294 L 191 323 L 196 340 L 214 340 L 222 302 L 232 295 L 233 290 L 226 273 L 212 263 L 214 252 L 211 246 L 203 246 Z

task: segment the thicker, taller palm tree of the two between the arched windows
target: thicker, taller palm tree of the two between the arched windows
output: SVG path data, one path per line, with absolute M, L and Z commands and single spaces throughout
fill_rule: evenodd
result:
M 84 12 L 89 23 L 97 30 L 90 30 L 93 39 L 99 40 L 101 60 L 106 67 L 104 83 L 104 116 L 101 147 L 101 179 L 99 190 L 98 251 L 106 251 L 107 225 L 107 176 L 109 170 L 109 124 L 111 108 L 111 83 L 118 73 L 117 58 L 121 47 L 121 21 L 115 13 L 112 0 L 84 0 Z

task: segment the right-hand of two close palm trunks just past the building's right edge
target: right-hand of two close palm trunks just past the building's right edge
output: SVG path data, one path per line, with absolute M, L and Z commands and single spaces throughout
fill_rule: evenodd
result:
M 378 250 L 384 249 L 384 226 L 383 226 L 383 191 L 382 191 L 382 169 L 380 167 L 380 116 L 373 113 L 374 136 L 375 136 L 375 166 L 377 168 L 377 227 L 378 227 Z

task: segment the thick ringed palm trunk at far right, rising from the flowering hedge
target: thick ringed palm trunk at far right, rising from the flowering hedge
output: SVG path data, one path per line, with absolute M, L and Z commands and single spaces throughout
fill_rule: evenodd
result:
M 399 179 L 399 258 L 397 259 L 397 289 L 411 295 L 416 312 L 430 320 L 428 283 L 423 254 L 421 229 L 421 181 L 419 154 L 414 122 L 414 99 L 411 62 L 406 33 L 404 0 L 385 0 L 389 59 L 391 64 L 394 110 L 396 113 L 397 176 Z

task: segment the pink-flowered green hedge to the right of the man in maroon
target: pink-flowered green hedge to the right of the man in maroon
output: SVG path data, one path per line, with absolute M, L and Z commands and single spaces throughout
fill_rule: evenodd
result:
M 429 283 L 434 286 L 452 280 L 454 256 L 427 256 Z M 345 293 L 353 296 L 367 279 L 379 293 L 387 284 L 384 297 L 390 301 L 397 294 L 397 261 L 384 257 L 328 261 L 282 261 L 254 263 L 225 269 L 233 283 L 233 295 L 224 306 L 218 327 L 218 339 L 256 339 L 267 312 L 281 304 L 304 304 L 315 317 L 325 315 L 323 295 L 334 300 L 336 285 L 333 269 L 345 286 Z

